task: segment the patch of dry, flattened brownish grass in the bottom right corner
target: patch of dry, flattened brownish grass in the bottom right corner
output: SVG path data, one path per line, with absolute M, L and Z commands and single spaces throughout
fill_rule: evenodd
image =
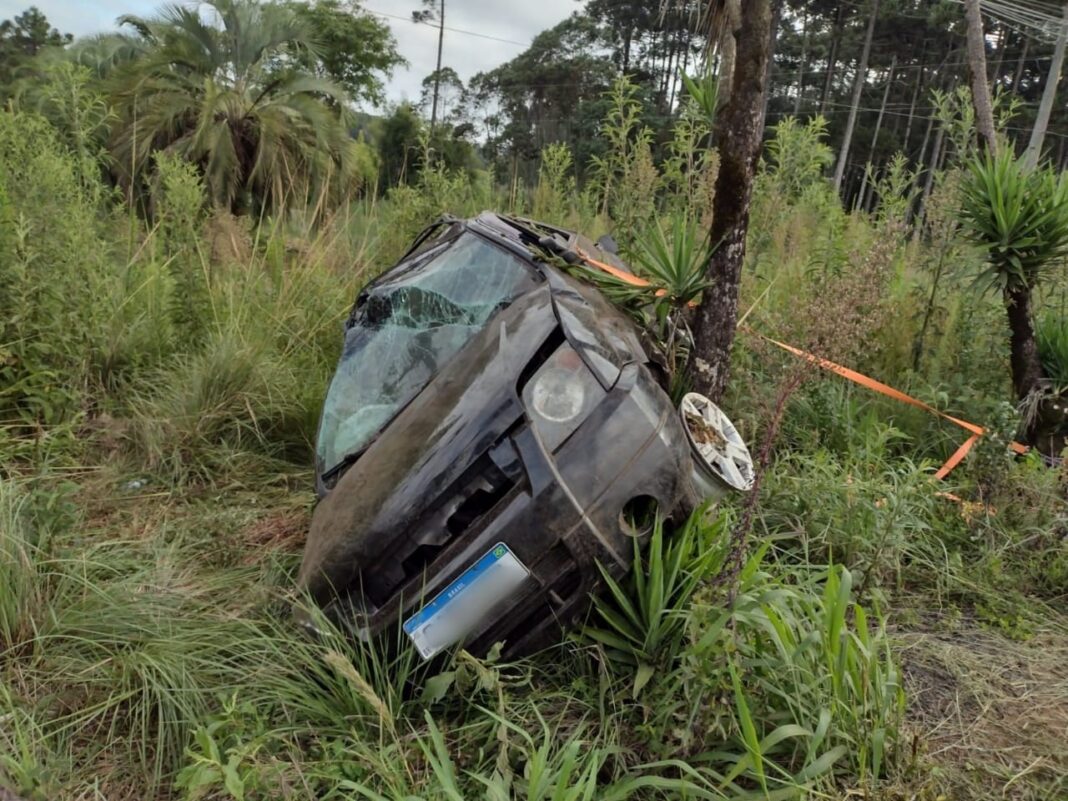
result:
M 899 635 L 909 718 L 951 798 L 1068 798 L 1068 632 Z

